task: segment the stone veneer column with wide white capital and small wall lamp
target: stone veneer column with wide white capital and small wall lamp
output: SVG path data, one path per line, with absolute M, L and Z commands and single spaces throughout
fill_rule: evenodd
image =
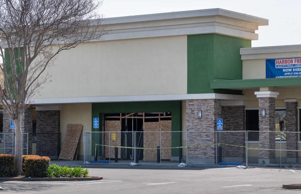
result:
M 262 91 L 255 92 L 259 102 L 259 150 L 258 163 L 267 165 L 275 163 L 275 98 L 279 92 Z M 265 117 L 262 117 L 262 109 L 265 109 Z

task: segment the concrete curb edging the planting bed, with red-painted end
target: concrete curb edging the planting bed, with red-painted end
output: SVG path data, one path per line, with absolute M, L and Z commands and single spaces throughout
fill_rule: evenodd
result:
M 1 177 L 0 181 L 96 181 L 102 180 L 102 177 L 73 177 L 73 178 L 7 178 Z

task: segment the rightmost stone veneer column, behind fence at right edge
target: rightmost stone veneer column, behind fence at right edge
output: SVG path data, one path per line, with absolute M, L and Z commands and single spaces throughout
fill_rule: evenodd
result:
M 286 99 L 286 131 L 298 132 L 298 102 L 296 99 Z M 287 150 L 298 150 L 298 133 L 286 133 Z M 288 151 L 286 162 L 297 162 L 298 152 Z

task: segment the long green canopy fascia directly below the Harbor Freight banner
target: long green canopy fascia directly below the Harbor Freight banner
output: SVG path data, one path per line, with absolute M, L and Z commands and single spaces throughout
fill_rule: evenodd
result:
M 301 77 L 210 81 L 211 89 L 301 86 Z

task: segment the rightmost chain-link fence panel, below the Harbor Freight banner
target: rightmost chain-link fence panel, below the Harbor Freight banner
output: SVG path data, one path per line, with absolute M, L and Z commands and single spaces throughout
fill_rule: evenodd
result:
M 300 132 L 248 131 L 248 165 L 301 168 Z

